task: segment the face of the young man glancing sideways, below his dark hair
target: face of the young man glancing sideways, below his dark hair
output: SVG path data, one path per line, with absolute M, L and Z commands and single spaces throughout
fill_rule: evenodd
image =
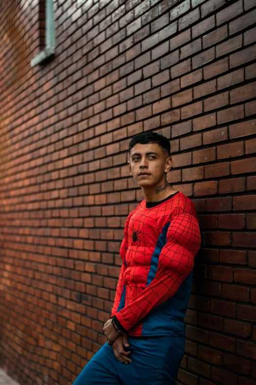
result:
M 168 151 L 158 144 L 136 144 L 130 150 L 128 169 L 140 187 L 154 186 L 161 182 L 164 173 L 172 167 Z

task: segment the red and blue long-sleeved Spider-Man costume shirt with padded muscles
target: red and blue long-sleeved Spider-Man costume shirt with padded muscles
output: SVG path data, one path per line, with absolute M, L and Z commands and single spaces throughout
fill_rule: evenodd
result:
M 128 215 L 111 313 L 128 336 L 185 335 L 184 317 L 200 244 L 194 204 L 182 192 L 155 204 L 144 199 Z

